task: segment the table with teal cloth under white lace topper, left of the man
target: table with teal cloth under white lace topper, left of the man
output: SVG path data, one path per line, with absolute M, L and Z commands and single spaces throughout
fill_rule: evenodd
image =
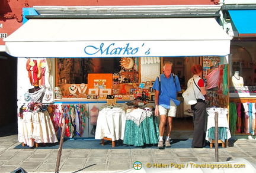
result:
M 158 119 L 152 111 L 134 109 L 126 115 L 124 141 L 126 145 L 143 146 L 158 143 Z

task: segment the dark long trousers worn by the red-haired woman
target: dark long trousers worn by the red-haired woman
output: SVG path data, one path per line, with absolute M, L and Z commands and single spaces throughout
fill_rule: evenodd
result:
M 205 144 L 206 137 L 206 104 L 205 102 L 197 102 L 193 109 L 194 134 L 192 147 L 201 148 Z

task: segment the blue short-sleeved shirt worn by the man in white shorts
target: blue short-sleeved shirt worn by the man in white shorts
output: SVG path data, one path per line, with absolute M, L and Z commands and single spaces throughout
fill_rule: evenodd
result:
M 177 100 L 177 92 L 181 91 L 180 81 L 178 80 L 178 76 L 175 75 L 175 83 L 174 83 L 174 76 L 169 78 L 165 77 L 164 73 L 160 75 L 160 82 L 161 82 L 161 89 L 159 88 L 159 80 L 156 77 L 155 83 L 153 84 L 152 88 L 159 91 L 159 98 L 158 104 L 162 107 L 169 109 L 170 107 L 170 100 L 172 100 L 175 105 L 179 106 L 180 101 Z

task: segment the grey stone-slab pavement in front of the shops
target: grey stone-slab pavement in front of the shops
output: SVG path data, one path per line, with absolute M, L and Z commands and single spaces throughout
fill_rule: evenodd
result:
M 0 129 L 1 130 L 1 129 Z M 27 172 L 55 172 L 58 149 L 14 149 L 17 134 L 0 132 L 0 172 L 23 168 Z M 219 147 L 219 162 L 244 158 L 256 165 L 256 140 L 239 139 Z M 139 161 L 150 164 L 213 163 L 215 148 L 166 149 L 62 149 L 59 172 L 119 172 Z

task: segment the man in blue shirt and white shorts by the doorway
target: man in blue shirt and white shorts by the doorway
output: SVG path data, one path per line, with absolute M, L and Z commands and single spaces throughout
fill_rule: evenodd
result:
M 177 100 L 177 92 L 181 91 L 180 81 L 178 76 L 171 73 L 172 63 L 164 62 L 164 73 L 156 77 L 153 89 L 155 89 L 155 116 L 160 115 L 159 122 L 159 141 L 158 148 L 164 148 L 164 130 L 167 122 L 165 147 L 170 147 L 169 136 L 171 135 L 172 117 L 176 116 L 177 106 L 180 101 Z M 159 80 L 160 78 L 160 80 Z

